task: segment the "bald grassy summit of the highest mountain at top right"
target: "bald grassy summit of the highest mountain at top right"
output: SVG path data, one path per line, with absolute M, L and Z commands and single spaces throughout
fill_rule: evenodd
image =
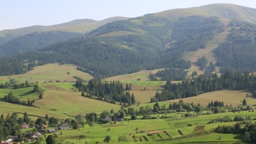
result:
M 234 4 L 210 4 L 193 8 L 178 8 L 154 13 L 154 15 L 174 21 L 178 20 L 179 17 L 187 16 L 218 16 L 256 23 L 255 8 Z

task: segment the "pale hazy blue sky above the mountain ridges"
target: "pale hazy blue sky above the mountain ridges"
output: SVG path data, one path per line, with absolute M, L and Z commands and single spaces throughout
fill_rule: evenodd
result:
M 0 30 L 59 24 L 74 19 L 136 17 L 174 8 L 233 3 L 256 8 L 255 0 L 0 0 Z

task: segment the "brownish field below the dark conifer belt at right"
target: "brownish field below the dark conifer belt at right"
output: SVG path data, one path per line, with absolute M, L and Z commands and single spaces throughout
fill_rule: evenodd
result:
M 198 96 L 193 96 L 189 98 L 182 99 L 186 103 L 193 102 L 194 104 L 200 103 L 201 106 L 206 107 L 211 101 L 223 101 L 224 104 L 232 104 L 233 106 L 238 106 L 242 104 L 243 99 L 246 99 L 248 105 L 256 104 L 256 99 L 254 99 L 251 94 L 246 97 L 246 91 L 233 91 L 233 90 L 221 90 L 213 91 L 209 93 L 203 93 Z M 170 100 L 168 102 L 179 103 L 180 99 Z

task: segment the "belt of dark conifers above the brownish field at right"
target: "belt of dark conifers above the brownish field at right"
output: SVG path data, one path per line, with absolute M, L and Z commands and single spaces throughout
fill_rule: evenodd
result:
M 181 83 L 167 81 L 165 89 L 155 94 L 154 101 L 181 99 L 223 89 L 248 90 L 256 97 L 256 76 L 249 72 L 227 70 L 220 77 L 210 73 L 208 77 L 199 75 L 193 79 L 182 80 Z

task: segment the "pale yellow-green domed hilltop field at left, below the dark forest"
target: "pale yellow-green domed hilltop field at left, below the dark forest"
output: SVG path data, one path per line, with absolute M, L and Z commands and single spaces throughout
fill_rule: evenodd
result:
M 20 82 L 28 80 L 29 82 L 38 81 L 39 83 L 45 83 L 45 81 L 47 83 L 49 80 L 52 80 L 53 82 L 56 80 L 61 82 L 74 82 L 76 79 L 73 78 L 73 76 L 81 77 L 84 80 L 90 80 L 93 78 L 88 73 L 81 72 L 76 68 L 77 66 L 70 64 L 46 64 L 43 66 L 34 67 L 33 70 L 27 72 L 26 74 L 0 77 L 0 82 L 4 83 L 5 81 L 8 81 L 10 77 L 19 80 Z M 67 72 L 70 72 L 70 74 L 67 74 Z

